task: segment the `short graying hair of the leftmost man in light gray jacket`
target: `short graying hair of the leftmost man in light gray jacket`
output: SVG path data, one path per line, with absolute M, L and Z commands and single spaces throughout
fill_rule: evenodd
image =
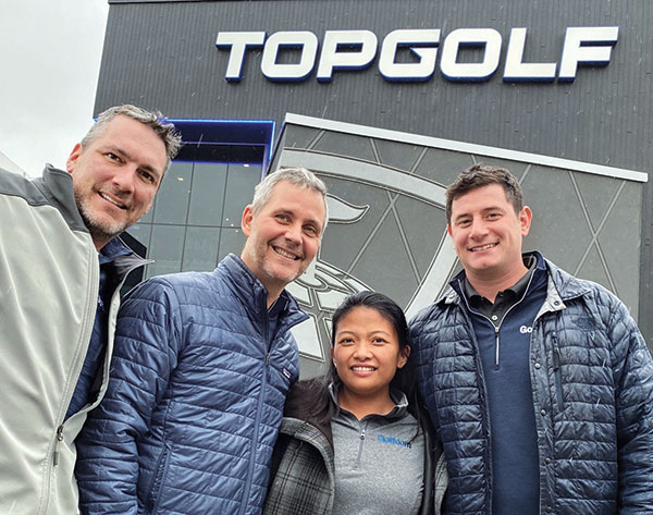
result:
M 170 167 L 170 161 L 174 159 L 182 147 L 182 135 L 176 132 L 174 125 L 159 111 L 148 111 L 131 103 L 109 108 L 98 115 L 97 122 L 94 123 L 93 127 L 84 136 L 84 139 L 82 139 L 82 147 L 87 147 L 100 137 L 104 133 L 109 122 L 115 117 L 131 118 L 155 131 L 157 136 L 163 142 L 163 145 L 165 145 L 165 172 Z

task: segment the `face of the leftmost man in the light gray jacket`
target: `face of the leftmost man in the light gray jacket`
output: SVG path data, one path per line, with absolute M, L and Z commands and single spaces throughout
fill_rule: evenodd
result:
M 75 145 L 66 168 L 98 249 L 149 210 L 165 162 L 165 145 L 157 133 L 123 115 L 111 120 L 87 147 Z

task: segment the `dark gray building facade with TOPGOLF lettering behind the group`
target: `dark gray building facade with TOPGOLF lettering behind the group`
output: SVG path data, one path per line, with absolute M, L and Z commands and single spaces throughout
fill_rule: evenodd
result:
M 132 234 L 147 275 L 239 253 L 269 169 L 330 188 L 322 250 L 293 293 L 311 314 L 372 289 L 414 314 L 457 270 L 444 187 L 473 162 L 521 181 L 527 248 L 616 293 L 651 342 L 653 4 L 538 0 L 110 0 L 96 112 L 165 112 L 187 142 Z

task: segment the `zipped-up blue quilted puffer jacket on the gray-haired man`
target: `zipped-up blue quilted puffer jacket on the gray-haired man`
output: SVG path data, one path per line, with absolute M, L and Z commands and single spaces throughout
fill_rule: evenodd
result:
M 213 272 L 153 278 L 121 308 L 111 379 L 77 441 L 85 514 L 258 514 L 285 395 L 298 377 L 285 303 L 227 256 Z

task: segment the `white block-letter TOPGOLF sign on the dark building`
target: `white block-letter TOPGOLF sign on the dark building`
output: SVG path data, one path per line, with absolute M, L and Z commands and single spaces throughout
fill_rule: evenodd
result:
M 494 28 L 458 28 L 442 39 L 440 28 L 397 29 L 381 44 L 370 30 L 326 30 L 321 50 L 318 37 L 309 30 L 220 32 L 215 46 L 229 50 L 224 78 L 239 82 L 248 49 L 261 48 L 261 73 L 269 81 L 298 82 L 316 75 L 319 82 L 333 81 L 336 71 L 357 71 L 378 66 L 392 82 L 429 81 L 435 73 L 438 50 L 440 71 L 448 81 L 486 81 L 498 70 L 503 38 Z M 619 27 L 567 27 L 558 62 L 525 62 L 527 28 L 512 28 L 505 47 L 504 82 L 572 82 L 579 64 L 607 65 L 617 42 Z M 442 39 L 442 41 L 441 41 Z M 459 62 L 466 47 L 481 50 L 476 62 Z M 296 62 L 280 62 L 280 54 L 294 50 Z M 414 56 L 398 62 L 399 49 Z M 317 68 L 317 72 L 316 72 Z

